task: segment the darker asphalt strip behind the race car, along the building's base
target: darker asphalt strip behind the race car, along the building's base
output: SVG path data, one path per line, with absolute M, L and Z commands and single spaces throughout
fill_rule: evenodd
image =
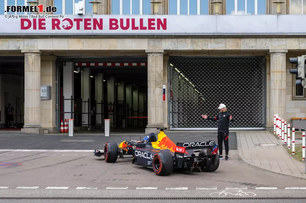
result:
M 173 133 L 166 132 L 166 135 L 174 142 L 202 142 L 214 140 L 217 142 L 216 133 Z M 157 134 L 156 134 L 157 137 Z M 71 150 L 90 150 L 103 149 L 106 141 L 113 141 L 120 144 L 124 140 L 142 140 L 143 136 L 97 136 L 97 135 L 31 135 L 21 133 L 0 133 L 0 149 L 71 149 Z M 237 150 L 236 133 L 229 135 L 230 149 Z M 224 144 L 223 144 L 224 149 Z

